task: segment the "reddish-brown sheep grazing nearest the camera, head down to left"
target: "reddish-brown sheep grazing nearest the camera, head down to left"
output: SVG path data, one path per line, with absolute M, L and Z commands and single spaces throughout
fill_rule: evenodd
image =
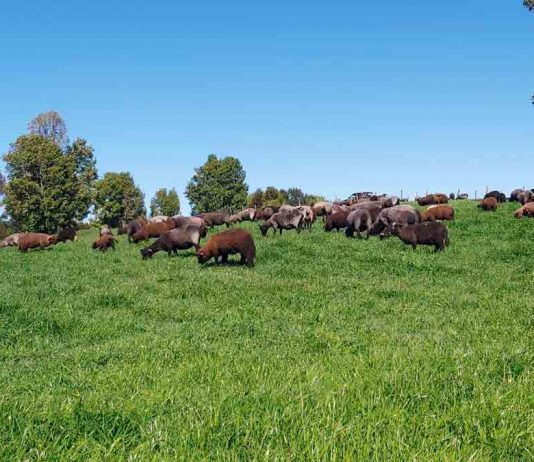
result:
M 254 266 L 256 258 L 256 246 L 252 235 L 245 229 L 236 228 L 217 233 L 212 236 L 208 243 L 198 250 L 198 262 L 206 263 L 214 258 L 215 263 L 228 262 L 228 255 L 240 254 L 242 265 Z

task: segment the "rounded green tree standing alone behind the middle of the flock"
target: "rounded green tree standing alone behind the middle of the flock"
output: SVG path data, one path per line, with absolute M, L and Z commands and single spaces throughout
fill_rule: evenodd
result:
M 195 169 L 185 190 L 193 213 L 215 210 L 233 212 L 243 208 L 248 194 L 245 177 L 239 159 L 218 159 L 215 154 L 210 154 L 207 162 Z

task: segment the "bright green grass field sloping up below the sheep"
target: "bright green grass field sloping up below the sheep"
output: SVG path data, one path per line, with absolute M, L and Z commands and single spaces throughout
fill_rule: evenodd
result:
M 534 220 L 453 205 L 440 254 L 0 251 L 0 460 L 533 460 Z

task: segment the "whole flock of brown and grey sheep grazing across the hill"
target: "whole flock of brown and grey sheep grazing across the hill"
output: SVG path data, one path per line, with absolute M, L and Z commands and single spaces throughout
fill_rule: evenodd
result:
M 478 207 L 484 211 L 495 211 L 506 196 L 499 191 L 491 191 L 480 201 Z M 521 207 L 515 211 L 517 218 L 534 217 L 534 190 L 518 189 L 510 195 L 510 201 L 517 201 Z M 234 228 L 241 221 L 258 221 L 263 236 L 270 229 L 274 234 L 283 230 L 311 229 L 318 217 L 322 217 L 324 230 L 344 230 L 347 237 L 359 238 L 397 236 L 415 250 L 418 245 L 433 246 L 435 251 L 443 251 L 449 244 L 446 221 L 454 220 L 454 209 L 445 194 L 428 194 L 416 198 L 420 206 L 427 206 L 423 212 L 408 204 L 401 204 L 397 197 L 354 195 L 342 202 L 318 202 L 313 206 L 301 205 L 246 208 L 237 214 L 209 212 L 198 216 L 157 216 L 140 218 L 118 229 L 119 235 L 127 235 L 129 242 L 142 242 L 155 238 L 147 247 L 140 250 L 143 259 L 164 251 L 169 256 L 178 250 L 195 248 L 199 263 L 214 259 L 216 263 L 226 263 L 228 256 L 239 254 L 241 263 L 254 265 L 256 248 L 249 231 Z M 206 245 L 200 246 L 207 230 L 225 225 L 228 229 L 212 235 Z M 18 246 L 26 252 L 30 249 L 45 249 L 58 242 L 76 239 L 76 230 L 65 227 L 55 235 L 44 233 L 16 233 L 0 242 L 1 247 Z M 114 249 L 117 238 L 108 226 L 100 229 L 99 238 L 92 247 L 106 251 Z

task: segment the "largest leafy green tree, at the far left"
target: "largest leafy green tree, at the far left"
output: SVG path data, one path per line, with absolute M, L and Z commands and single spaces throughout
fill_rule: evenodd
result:
M 92 149 L 86 153 L 94 165 Z M 5 154 L 8 183 L 4 204 L 22 231 L 54 232 L 89 213 L 89 179 L 80 174 L 77 156 L 64 153 L 49 138 L 23 135 Z

